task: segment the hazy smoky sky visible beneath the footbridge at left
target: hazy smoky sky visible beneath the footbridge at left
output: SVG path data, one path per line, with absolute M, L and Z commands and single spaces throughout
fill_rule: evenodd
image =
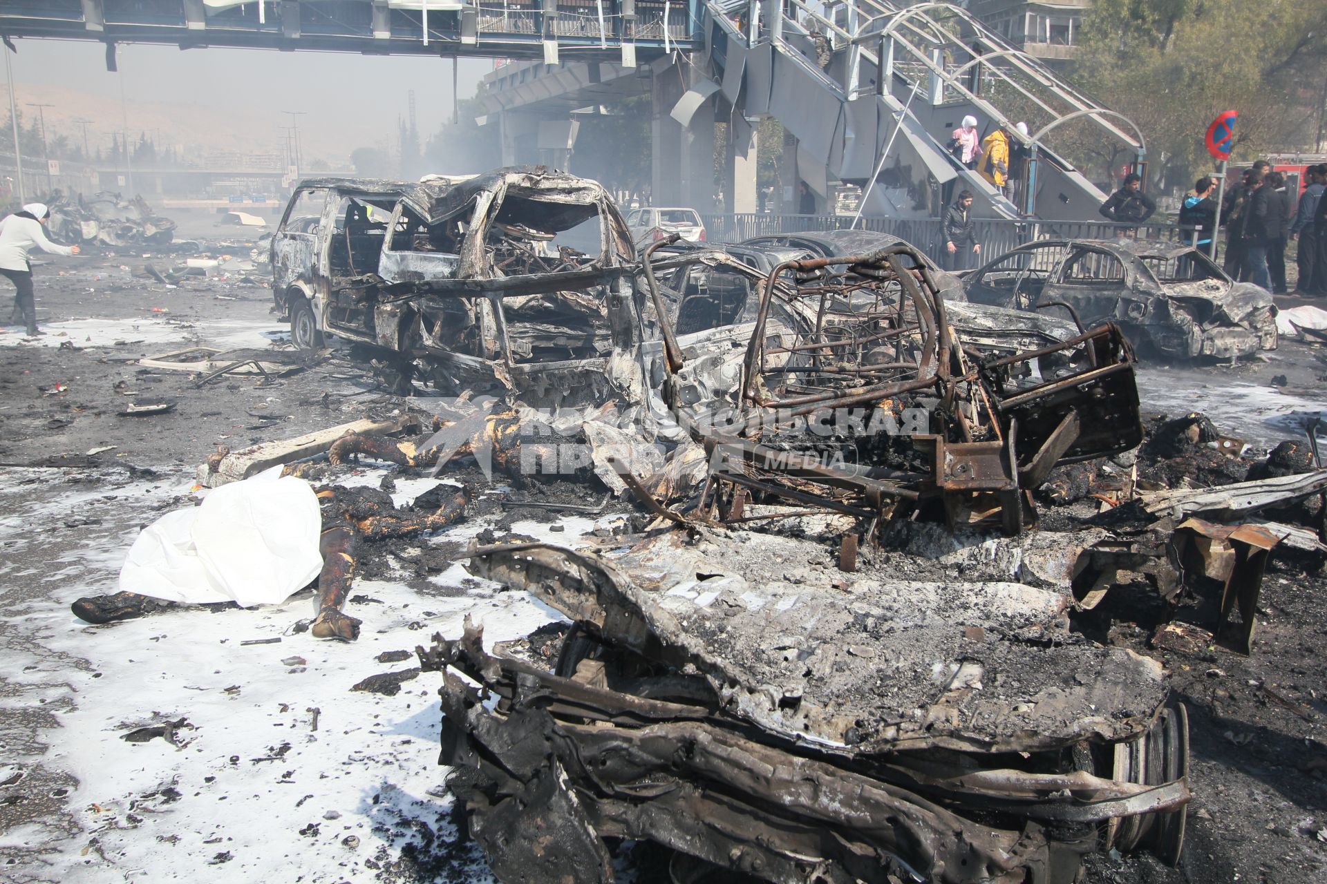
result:
M 162 142 L 207 143 L 215 126 L 231 142 L 252 137 L 265 150 L 280 143 L 280 126 L 291 122 L 281 111 L 301 110 L 305 156 L 345 158 L 354 147 L 394 142 L 411 89 L 421 139 L 451 114 L 450 58 L 121 44 L 119 73 L 107 73 L 100 42 L 15 44 L 19 53 L 11 53 L 11 61 L 20 113 L 36 113 L 24 107 L 27 102 L 56 105 L 46 109 L 53 133 L 78 131 L 72 121 L 92 118 L 94 143 L 98 138 L 109 143 L 110 133 L 123 129 L 121 83 L 134 137 L 143 129 L 149 137 L 153 130 L 175 129 L 161 133 Z M 492 62 L 462 60 L 459 69 L 464 99 Z M 8 107 L 0 107 L 0 118 L 7 115 Z

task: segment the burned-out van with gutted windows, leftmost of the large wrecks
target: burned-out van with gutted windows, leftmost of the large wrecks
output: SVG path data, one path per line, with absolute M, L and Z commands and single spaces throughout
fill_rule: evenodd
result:
M 604 188 L 543 167 L 305 180 L 272 237 L 272 286 L 296 346 L 332 333 L 406 382 L 596 399 L 638 379 L 634 258 Z

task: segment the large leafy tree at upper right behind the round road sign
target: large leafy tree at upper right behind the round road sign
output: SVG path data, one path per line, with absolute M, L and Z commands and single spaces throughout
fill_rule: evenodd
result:
M 1223 110 L 1249 159 L 1314 139 L 1327 4 L 1097 0 L 1079 34 L 1071 77 L 1139 125 L 1157 180 L 1210 166 L 1202 138 Z

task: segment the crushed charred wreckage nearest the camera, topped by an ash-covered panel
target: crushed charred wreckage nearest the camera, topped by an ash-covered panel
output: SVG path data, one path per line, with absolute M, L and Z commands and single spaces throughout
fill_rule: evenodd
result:
M 681 529 L 608 557 L 474 550 L 472 573 L 573 620 L 552 672 L 468 623 L 419 649 L 499 879 L 610 881 L 602 839 L 621 838 L 674 851 L 674 877 L 1067 883 L 1121 818 L 1121 850 L 1177 854 L 1186 750 L 1160 667 L 1048 640 L 1056 591 L 775 573 L 819 554 Z

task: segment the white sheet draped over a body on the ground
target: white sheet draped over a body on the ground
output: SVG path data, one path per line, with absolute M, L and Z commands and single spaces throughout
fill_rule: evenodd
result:
M 212 489 L 134 541 L 121 591 L 167 602 L 280 604 L 322 570 L 322 517 L 303 478 L 280 467 Z

